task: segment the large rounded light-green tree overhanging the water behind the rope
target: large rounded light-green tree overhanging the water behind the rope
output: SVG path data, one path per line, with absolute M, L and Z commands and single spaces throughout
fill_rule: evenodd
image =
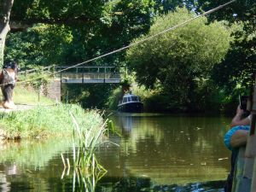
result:
M 192 17 L 195 14 L 187 9 L 177 9 L 157 19 L 148 36 Z M 207 25 L 207 18 L 201 17 L 187 26 L 132 47 L 127 59 L 137 72 L 140 84 L 148 88 L 160 84 L 164 94 L 169 96 L 170 105 L 177 103 L 181 108 L 190 108 L 190 105 L 196 108 L 196 91 L 210 78 L 212 67 L 224 59 L 229 47 L 228 26 L 218 22 Z

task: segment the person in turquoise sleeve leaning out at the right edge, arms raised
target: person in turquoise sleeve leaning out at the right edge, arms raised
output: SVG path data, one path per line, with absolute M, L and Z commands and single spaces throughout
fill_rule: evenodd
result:
M 232 190 L 232 182 L 238 150 L 241 146 L 244 146 L 247 143 L 247 137 L 250 130 L 251 115 L 246 114 L 247 112 L 241 109 L 241 106 L 238 106 L 236 109 L 236 115 L 231 120 L 231 128 L 224 136 L 224 144 L 232 152 L 231 170 L 224 186 L 224 192 L 231 192 Z

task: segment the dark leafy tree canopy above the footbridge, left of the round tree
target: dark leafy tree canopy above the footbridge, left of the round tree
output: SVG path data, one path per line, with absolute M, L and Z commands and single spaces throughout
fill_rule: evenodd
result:
M 8 59 L 19 60 L 23 66 L 74 64 L 103 55 L 148 32 L 154 20 L 153 6 L 153 0 L 16 1 L 11 15 L 13 34 L 7 42 Z M 28 27 L 26 32 L 17 32 L 23 27 Z M 68 39 L 61 39 L 65 36 Z M 24 49 L 15 45 L 19 39 Z M 94 64 L 118 65 L 124 55 L 110 55 Z

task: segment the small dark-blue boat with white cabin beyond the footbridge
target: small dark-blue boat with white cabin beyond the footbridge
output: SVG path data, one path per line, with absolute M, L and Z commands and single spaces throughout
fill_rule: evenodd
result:
M 125 94 L 118 105 L 119 112 L 127 113 L 142 113 L 143 112 L 143 102 L 139 96 L 133 95 L 131 93 Z

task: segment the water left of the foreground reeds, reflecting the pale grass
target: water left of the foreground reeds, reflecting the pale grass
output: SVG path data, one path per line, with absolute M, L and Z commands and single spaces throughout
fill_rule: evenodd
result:
M 49 178 L 59 177 L 61 152 L 71 141 L 24 140 L 0 144 L 0 191 L 49 191 Z

